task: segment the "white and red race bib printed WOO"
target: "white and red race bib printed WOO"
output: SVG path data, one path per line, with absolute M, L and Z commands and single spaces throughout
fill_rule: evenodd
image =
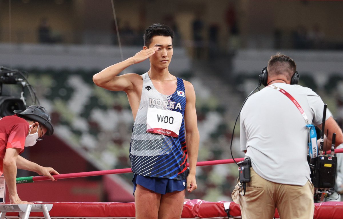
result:
M 177 111 L 148 108 L 146 132 L 178 137 L 182 114 Z

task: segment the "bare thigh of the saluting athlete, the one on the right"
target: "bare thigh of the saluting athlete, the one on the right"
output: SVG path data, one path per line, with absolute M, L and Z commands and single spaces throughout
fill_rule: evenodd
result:
M 185 191 L 175 191 L 162 195 L 158 219 L 180 219 L 184 208 Z

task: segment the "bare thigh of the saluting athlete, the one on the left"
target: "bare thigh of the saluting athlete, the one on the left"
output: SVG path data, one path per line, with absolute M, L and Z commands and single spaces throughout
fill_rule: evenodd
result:
M 136 219 L 157 219 L 161 194 L 137 184 L 134 192 Z

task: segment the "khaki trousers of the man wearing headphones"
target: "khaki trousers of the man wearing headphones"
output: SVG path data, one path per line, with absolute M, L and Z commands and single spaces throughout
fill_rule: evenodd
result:
M 236 185 L 232 199 L 239 204 L 242 219 L 272 219 L 275 207 L 280 219 L 313 219 L 313 192 L 310 181 L 305 186 L 275 183 L 263 179 L 250 168 L 245 195 L 240 194 Z

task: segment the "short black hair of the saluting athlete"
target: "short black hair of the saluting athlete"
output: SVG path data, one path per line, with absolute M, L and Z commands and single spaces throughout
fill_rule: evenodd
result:
M 154 36 L 171 37 L 171 42 L 173 42 L 174 31 L 165 24 L 153 24 L 145 30 L 143 36 L 144 45 L 149 46 L 151 43 L 151 39 Z

